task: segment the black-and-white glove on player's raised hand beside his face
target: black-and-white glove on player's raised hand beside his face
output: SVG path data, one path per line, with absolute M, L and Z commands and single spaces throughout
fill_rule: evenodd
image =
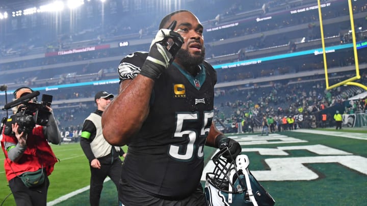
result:
M 169 28 L 170 27 L 172 26 L 170 25 Z M 140 74 L 149 77 L 154 81 L 157 80 L 161 73 L 173 62 L 174 56 L 178 51 L 178 49 L 170 49 L 170 51 L 168 51 L 167 46 L 170 47 L 174 45 L 177 47 L 178 45 L 179 48 L 181 48 L 182 43 L 183 38 L 178 33 L 173 32 L 168 28 L 162 28 L 159 30 L 150 44 L 149 54 L 141 68 Z

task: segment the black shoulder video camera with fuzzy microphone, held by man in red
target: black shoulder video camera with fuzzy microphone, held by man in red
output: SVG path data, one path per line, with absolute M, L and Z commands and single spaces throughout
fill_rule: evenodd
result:
M 30 133 L 36 125 L 48 126 L 48 120 L 51 112 L 48 111 L 46 106 L 50 106 L 53 96 L 42 95 L 41 103 L 29 101 L 37 97 L 40 93 L 38 91 L 27 94 L 13 102 L 10 102 L 4 106 L 4 109 L 10 109 L 12 107 L 21 105 L 18 108 L 17 113 L 9 115 L 5 120 L 4 134 L 14 136 L 12 131 L 12 124 L 18 123 L 18 132 Z

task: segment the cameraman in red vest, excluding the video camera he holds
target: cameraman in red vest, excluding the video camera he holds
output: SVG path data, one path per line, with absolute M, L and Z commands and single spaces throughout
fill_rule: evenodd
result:
M 29 87 L 20 87 L 14 92 L 15 99 L 32 93 Z M 37 98 L 29 103 L 37 102 Z M 45 106 L 49 115 L 49 126 L 36 125 L 31 132 L 18 131 L 18 123 L 12 124 L 14 136 L 5 135 L 1 140 L 5 154 L 5 171 L 9 187 L 13 193 L 17 205 L 46 205 L 49 181 L 47 176 L 54 170 L 58 161 L 48 144 L 58 144 L 61 140 L 59 128 L 56 124 L 53 110 Z M 27 106 L 19 105 L 19 110 L 27 109 Z M 48 140 L 48 141 L 47 141 Z M 24 183 L 24 172 L 40 171 L 36 181 L 30 184 Z M 39 176 L 39 178 L 38 178 Z M 31 177 L 32 178 L 32 177 Z

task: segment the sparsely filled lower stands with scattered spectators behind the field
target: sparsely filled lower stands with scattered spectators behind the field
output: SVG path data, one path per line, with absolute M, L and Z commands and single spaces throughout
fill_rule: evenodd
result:
M 322 76 L 319 77 L 322 79 Z M 259 130 L 260 118 L 263 115 L 268 118 L 272 117 L 275 123 L 280 122 L 284 116 L 291 116 L 296 119 L 295 125 L 298 123 L 296 128 L 314 128 L 322 126 L 321 114 L 329 107 L 337 106 L 340 108 L 342 106 L 341 112 L 348 114 L 367 112 L 367 97 L 348 101 L 349 98 L 364 92 L 360 87 L 339 86 L 332 90 L 325 90 L 325 83 L 320 79 L 310 79 L 306 82 L 281 80 L 271 84 L 263 83 L 247 87 L 218 89 L 215 97 L 216 120 L 225 125 L 231 125 L 234 129 L 237 129 L 235 128 L 237 123 L 245 124 L 243 129 L 248 129 L 251 123 L 255 130 Z M 342 79 L 335 79 L 330 83 L 336 83 L 340 80 Z M 358 82 L 367 85 L 366 73 L 361 75 Z M 109 85 L 110 89 L 113 87 L 116 87 L 114 91 L 117 94 L 118 85 Z M 89 92 L 94 93 L 99 89 L 94 90 L 96 91 L 89 90 Z M 80 98 L 80 96 L 70 98 Z M 90 101 L 65 104 L 63 108 L 54 109 L 60 128 L 65 131 L 74 131 L 83 125 L 83 120 L 95 107 L 92 97 L 89 98 Z M 348 106 L 344 105 L 346 101 L 349 102 Z M 299 115 L 302 115 L 302 123 L 298 121 Z M 327 115 L 328 124 L 324 126 L 331 127 L 333 126 L 332 114 L 327 113 Z M 277 131 L 277 129 L 275 130 Z

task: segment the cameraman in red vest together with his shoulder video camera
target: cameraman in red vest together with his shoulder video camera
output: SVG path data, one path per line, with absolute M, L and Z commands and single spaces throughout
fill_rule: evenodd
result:
M 29 87 L 20 87 L 14 92 L 15 101 L 4 107 L 16 112 L 6 119 L 1 144 L 6 177 L 17 205 L 46 205 L 47 176 L 58 161 L 48 144 L 61 140 L 51 101 L 43 98 L 38 103 L 38 95 Z

